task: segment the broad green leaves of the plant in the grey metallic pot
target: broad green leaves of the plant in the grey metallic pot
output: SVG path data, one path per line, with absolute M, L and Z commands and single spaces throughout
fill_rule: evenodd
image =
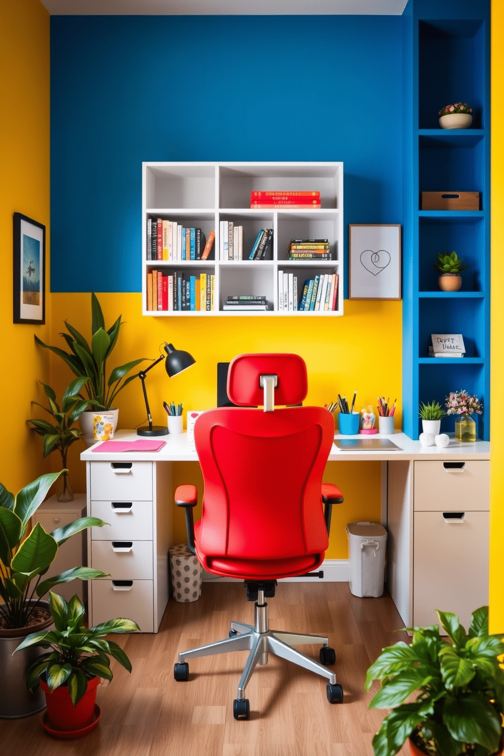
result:
M 60 474 L 45 473 L 16 495 L 0 483 L 0 596 L 3 600 L 0 603 L 0 629 L 29 626 L 30 616 L 39 606 L 39 600 L 55 585 L 68 583 L 74 578 L 91 580 L 106 576 L 100 570 L 73 567 L 42 580 L 54 562 L 58 548 L 70 536 L 91 526 L 107 524 L 97 517 L 79 517 L 48 533 L 37 522 L 25 538 L 30 518 Z

